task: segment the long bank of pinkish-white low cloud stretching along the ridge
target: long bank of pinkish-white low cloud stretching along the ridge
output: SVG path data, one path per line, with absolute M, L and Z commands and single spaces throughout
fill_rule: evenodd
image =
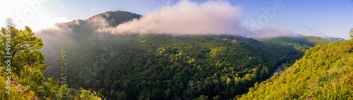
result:
M 102 13 L 108 15 L 107 13 Z M 57 24 L 56 27 L 37 33 L 47 36 L 59 34 L 111 33 L 126 34 L 167 34 L 167 35 L 239 35 L 253 38 L 296 37 L 288 30 L 263 28 L 249 30 L 241 26 L 241 7 L 232 6 L 227 1 L 206 1 L 197 3 L 181 0 L 177 4 L 164 6 L 150 11 L 139 19 L 112 27 L 102 14 L 88 20 L 74 20 L 70 23 Z M 112 22 L 110 22 L 112 23 Z M 44 37 L 44 35 L 42 36 Z M 69 38 L 69 37 L 66 37 Z

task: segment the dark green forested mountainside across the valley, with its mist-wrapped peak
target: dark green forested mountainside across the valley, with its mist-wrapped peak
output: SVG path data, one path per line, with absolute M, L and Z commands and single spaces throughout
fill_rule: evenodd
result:
M 259 42 L 232 35 L 112 35 L 97 32 L 97 26 L 90 24 L 100 17 L 116 26 L 140 15 L 109 11 L 64 23 L 70 32 L 42 33 L 38 36 L 44 42 L 42 52 L 46 65 L 51 66 L 44 76 L 60 77 L 64 49 L 68 86 L 93 89 L 107 99 L 244 94 L 256 82 L 267 80 L 278 65 L 327 42 L 304 36 Z

